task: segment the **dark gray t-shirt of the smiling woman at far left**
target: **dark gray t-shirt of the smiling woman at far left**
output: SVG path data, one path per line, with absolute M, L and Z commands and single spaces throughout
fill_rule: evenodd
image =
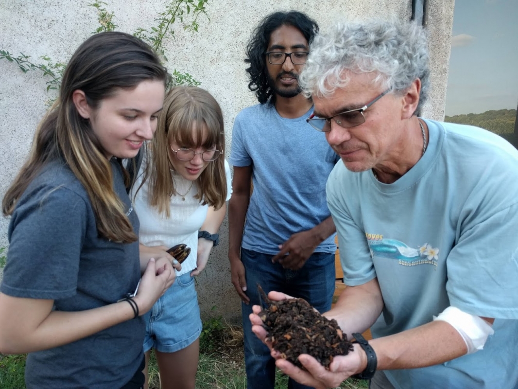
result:
M 113 187 L 138 235 L 138 218 L 122 170 L 112 160 Z M 49 163 L 12 214 L 2 293 L 54 300 L 54 310 L 83 311 L 132 293 L 140 279 L 138 242 L 99 238 L 90 198 L 70 169 Z M 123 386 L 142 360 L 141 317 L 27 356 L 27 388 Z

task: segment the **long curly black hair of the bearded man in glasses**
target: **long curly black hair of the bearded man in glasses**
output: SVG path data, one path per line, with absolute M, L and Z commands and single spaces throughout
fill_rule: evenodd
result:
M 308 44 L 311 43 L 313 37 L 319 31 L 318 24 L 299 11 L 271 13 L 255 28 L 247 45 L 247 58 L 244 62 L 250 64 L 250 67 L 246 70 L 250 74 L 248 88 L 252 92 L 255 92 L 257 100 L 259 100 L 261 104 L 268 101 L 271 104 L 275 104 L 275 93 L 268 84 L 266 50 L 268 49 L 271 33 L 283 25 L 291 25 L 300 30 L 308 41 Z

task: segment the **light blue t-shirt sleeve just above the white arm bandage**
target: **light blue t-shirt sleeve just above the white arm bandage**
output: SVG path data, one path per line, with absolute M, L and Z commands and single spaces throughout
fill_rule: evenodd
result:
M 503 190 L 503 188 L 501 189 Z M 518 312 L 518 204 L 466 219 L 447 258 L 450 303 L 485 317 L 515 319 Z

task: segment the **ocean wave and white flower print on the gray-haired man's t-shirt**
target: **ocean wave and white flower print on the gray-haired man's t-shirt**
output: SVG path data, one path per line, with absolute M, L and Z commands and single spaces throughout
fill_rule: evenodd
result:
M 395 239 L 385 239 L 381 234 L 365 234 L 369 243 L 370 256 L 381 258 L 397 259 L 399 265 L 434 265 L 437 267 L 439 259 L 439 248 L 434 248 L 428 243 L 417 248 Z

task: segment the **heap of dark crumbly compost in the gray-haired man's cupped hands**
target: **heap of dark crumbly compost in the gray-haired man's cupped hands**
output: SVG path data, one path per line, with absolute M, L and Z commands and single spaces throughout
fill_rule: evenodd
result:
M 309 354 L 328 369 L 335 356 L 353 350 L 336 320 L 322 316 L 306 300 L 271 301 L 260 285 L 257 288 L 263 308 L 259 317 L 268 332 L 266 339 L 282 358 L 304 369 L 297 358 Z

